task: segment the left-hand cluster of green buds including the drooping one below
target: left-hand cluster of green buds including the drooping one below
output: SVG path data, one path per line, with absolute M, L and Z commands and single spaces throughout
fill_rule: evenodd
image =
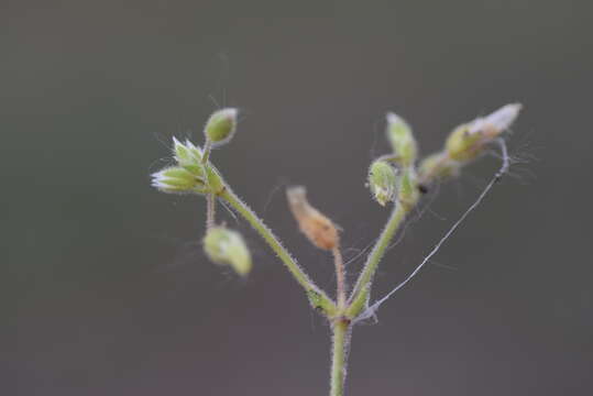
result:
M 208 161 L 209 152 L 212 146 L 220 146 L 232 139 L 237 130 L 237 109 L 215 111 L 204 129 L 204 148 L 194 145 L 189 140 L 182 143 L 173 138 L 173 157 L 176 164 L 152 174 L 152 186 L 163 193 L 208 196 L 208 199 L 212 200 L 212 207 L 208 210 L 212 212 L 207 216 L 213 218 L 213 199 L 224 189 L 224 185 Z M 206 255 L 216 264 L 229 265 L 242 276 L 251 271 L 251 254 L 239 232 L 212 226 L 208 228 L 202 242 Z

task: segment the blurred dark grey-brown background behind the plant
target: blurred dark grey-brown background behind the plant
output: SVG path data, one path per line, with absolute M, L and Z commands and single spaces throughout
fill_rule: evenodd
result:
M 348 394 L 590 395 L 592 12 L 552 0 L 3 0 L 2 394 L 327 394 L 329 329 L 279 261 L 220 211 L 255 268 L 242 280 L 212 265 L 204 200 L 150 187 L 172 136 L 201 143 L 215 109 L 241 108 L 213 161 L 332 290 L 331 260 L 297 231 L 284 187 L 305 184 L 354 257 L 388 215 L 364 187 L 388 150 L 386 111 L 427 154 L 457 124 L 520 101 L 509 147 L 523 163 L 378 323 L 354 329 Z M 375 297 L 497 167 L 485 157 L 427 199 Z

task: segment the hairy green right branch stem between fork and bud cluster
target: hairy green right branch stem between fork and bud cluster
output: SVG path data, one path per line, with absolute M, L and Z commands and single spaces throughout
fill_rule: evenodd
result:
M 392 216 L 389 217 L 389 220 L 387 220 L 387 224 L 385 224 L 385 228 L 381 232 L 373 251 L 369 255 L 366 264 L 364 265 L 364 268 L 356 280 L 356 286 L 354 287 L 354 290 L 350 297 L 350 306 L 348 307 L 347 312 L 350 318 L 355 318 L 363 309 L 369 297 L 371 284 L 373 282 L 378 263 L 385 255 L 385 252 L 387 251 L 387 248 L 389 246 L 396 231 L 403 224 L 406 215 L 414 206 L 415 202 L 411 205 L 403 205 L 398 202 L 392 211 Z

